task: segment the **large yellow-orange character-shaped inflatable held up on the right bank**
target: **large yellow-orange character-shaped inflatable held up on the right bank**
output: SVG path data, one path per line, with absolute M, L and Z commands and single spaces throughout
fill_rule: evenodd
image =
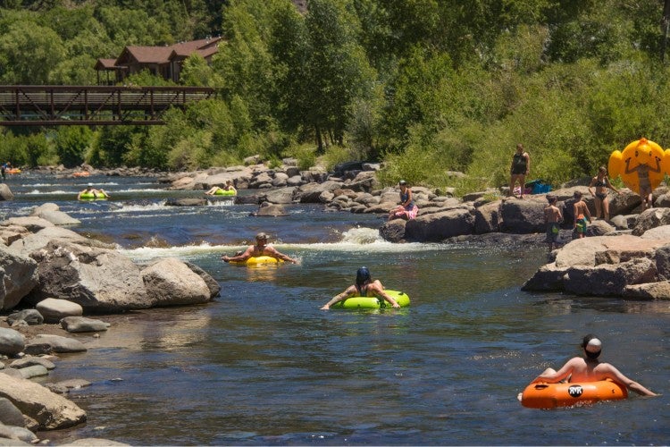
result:
M 649 183 L 654 190 L 663 181 L 666 173 L 670 172 L 670 149 L 664 151 L 657 143 L 641 138 L 633 141 L 624 148 L 616 150 L 609 156 L 607 173 L 610 179 L 621 176 L 621 180 L 631 190 L 640 193 L 640 178 L 638 166 L 649 166 Z

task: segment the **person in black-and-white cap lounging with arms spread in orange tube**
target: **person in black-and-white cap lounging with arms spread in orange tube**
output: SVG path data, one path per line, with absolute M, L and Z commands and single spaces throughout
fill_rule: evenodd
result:
M 629 379 L 613 365 L 600 363 L 598 358 L 602 350 L 602 342 L 592 333 L 583 338 L 581 346 L 584 350 L 584 357 L 571 358 L 558 371 L 550 367 L 547 368 L 532 381 L 532 384 L 541 382 L 557 384 L 565 380 L 572 383 L 598 382 L 599 380 L 611 379 L 617 384 L 621 384 L 642 396 L 658 395 L 656 392 L 652 392 L 634 380 Z

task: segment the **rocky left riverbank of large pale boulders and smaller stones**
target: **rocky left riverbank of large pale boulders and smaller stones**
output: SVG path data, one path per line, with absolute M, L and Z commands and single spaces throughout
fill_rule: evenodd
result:
M 72 334 L 95 337 L 108 330 L 109 323 L 88 316 L 203 304 L 221 289 L 205 271 L 177 258 L 137 265 L 112 246 L 60 226 L 73 223 L 54 204 L 0 223 L 0 308 L 8 314 L 0 318 L 0 443 L 36 443 L 36 432 L 86 420 L 63 397 L 86 381 L 42 386 L 29 379 L 48 375 L 58 356 L 87 350 Z

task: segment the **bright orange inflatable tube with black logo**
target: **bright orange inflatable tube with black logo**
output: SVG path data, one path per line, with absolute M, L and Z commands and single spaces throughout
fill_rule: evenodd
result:
M 529 409 L 555 409 L 628 397 L 624 386 L 611 380 L 581 384 L 530 384 L 523 390 L 521 404 Z

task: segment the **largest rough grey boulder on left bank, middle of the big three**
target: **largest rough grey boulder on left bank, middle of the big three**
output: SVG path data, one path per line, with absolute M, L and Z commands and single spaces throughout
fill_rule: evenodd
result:
M 30 302 L 68 299 L 86 314 L 151 307 L 139 267 L 115 250 L 52 241 L 31 257 L 38 261 L 39 283 Z

